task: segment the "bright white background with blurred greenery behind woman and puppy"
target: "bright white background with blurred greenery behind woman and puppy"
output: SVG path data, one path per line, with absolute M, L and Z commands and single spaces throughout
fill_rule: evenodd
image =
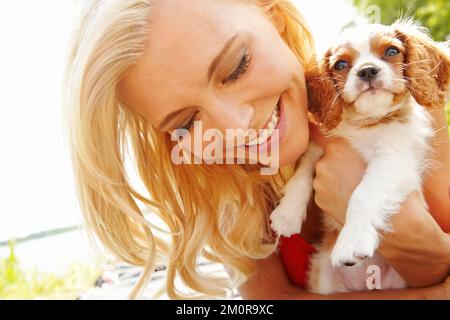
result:
M 345 26 L 365 21 L 365 14 L 384 23 L 399 14 L 417 14 L 435 39 L 444 41 L 450 34 L 447 0 L 295 3 L 319 51 Z M 105 289 L 118 281 L 114 266 L 90 249 L 78 227 L 82 220 L 61 93 L 69 38 L 82 4 L 0 2 L 0 299 L 126 297 L 126 290 Z

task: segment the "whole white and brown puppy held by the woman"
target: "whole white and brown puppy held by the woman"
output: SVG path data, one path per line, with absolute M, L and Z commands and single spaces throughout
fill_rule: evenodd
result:
M 326 133 L 346 138 L 367 162 L 345 225 L 324 219 L 325 238 L 310 271 L 313 291 L 367 290 L 370 265 L 380 267 L 382 289 L 405 287 L 376 250 L 380 233 L 390 231 L 390 217 L 411 192 L 421 192 L 433 134 L 426 109 L 443 107 L 449 77 L 448 48 L 411 22 L 344 32 L 308 75 L 312 114 Z M 271 215 L 277 233 L 300 232 L 320 153 L 311 145 L 284 188 Z

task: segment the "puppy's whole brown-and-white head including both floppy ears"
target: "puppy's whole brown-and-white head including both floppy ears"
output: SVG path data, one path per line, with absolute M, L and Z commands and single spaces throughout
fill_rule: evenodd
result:
M 356 27 L 307 73 L 310 111 L 333 129 L 344 111 L 382 117 L 408 94 L 425 107 L 442 106 L 449 70 L 447 49 L 409 22 Z

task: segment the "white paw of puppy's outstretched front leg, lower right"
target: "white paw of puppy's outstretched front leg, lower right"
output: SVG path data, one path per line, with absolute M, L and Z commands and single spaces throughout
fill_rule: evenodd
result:
M 331 253 L 331 264 L 334 267 L 359 266 L 371 258 L 377 248 L 378 235 L 375 231 L 344 227 Z

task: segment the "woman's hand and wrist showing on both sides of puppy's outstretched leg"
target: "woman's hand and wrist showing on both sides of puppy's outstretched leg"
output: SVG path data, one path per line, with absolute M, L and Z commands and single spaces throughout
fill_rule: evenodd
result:
M 343 139 L 325 139 L 311 128 L 312 138 L 324 148 L 316 165 L 316 204 L 338 223 L 345 223 L 347 203 L 360 183 L 365 162 Z M 428 213 L 419 194 L 411 194 L 393 216 L 395 232 L 384 235 L 378 252 L 409 286 L 442 282 L 450 271 L 450 236 Z

